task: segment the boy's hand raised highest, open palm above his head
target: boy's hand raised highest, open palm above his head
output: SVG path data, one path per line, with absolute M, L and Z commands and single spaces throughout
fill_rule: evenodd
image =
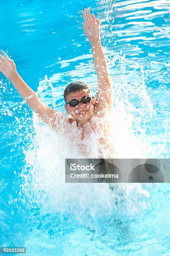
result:
M 93 13 L 90 14 L 89 9 L 87 9 L 87 16 L 86 12 L 83 12 L 83 18 L 82 24 L 85 35 L 90 43 L 98 42 L 100 40 L 100 20 L 96 19 Z

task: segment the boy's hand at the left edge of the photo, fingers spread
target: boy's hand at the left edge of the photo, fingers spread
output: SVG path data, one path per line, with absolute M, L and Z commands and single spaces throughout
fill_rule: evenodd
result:
M 3 50 L 0 50 L 0 52 L 0 71 L 5 75 L 5 77 L 10 79 L 16 74 L 15 63 Z

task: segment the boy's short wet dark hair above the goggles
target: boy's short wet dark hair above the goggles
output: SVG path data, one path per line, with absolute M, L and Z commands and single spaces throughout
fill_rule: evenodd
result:
M 67 95 L 69 95 L 72 92 L 80 92 L 81 90 L 89 90 L 89 85 L 85 84 L 84 82 L 72 82 L 69 85 L 67 85 L 66 89 L 64 90 L 64 100 L 67 103 Z

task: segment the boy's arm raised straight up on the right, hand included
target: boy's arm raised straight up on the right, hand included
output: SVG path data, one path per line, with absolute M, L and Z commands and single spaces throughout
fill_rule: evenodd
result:
M 98 91 L 96 95 L 95 109 L 97 111 L 101 111 L 108 107 L 108 110 L 110 111 L 113 100 L 112 83 L 107 68 L 107 62 L 101 46 L 100 20 L 97 19 L 93 13 L 91 15 L 89 9 L 87 9 L 87 16 L 86 13 L 83 12 L 83 18 L 83 29 L 91 44 L 94 67 L 96 69 L 98 79 Z

